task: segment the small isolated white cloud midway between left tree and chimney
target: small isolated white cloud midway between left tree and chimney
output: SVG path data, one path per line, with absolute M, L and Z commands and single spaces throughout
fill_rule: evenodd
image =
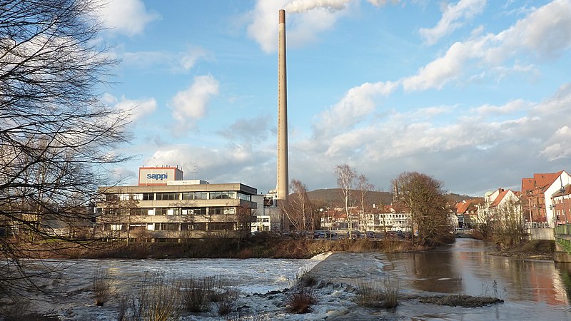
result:
M 213 76 L 197 76 L 193 84 L 184 91 L 179 91 L 171 101 L 173 118 L 186 131 L 194 121 L 206 114 L 206 105 L 212 96 L 218 95 L 218 81 Z

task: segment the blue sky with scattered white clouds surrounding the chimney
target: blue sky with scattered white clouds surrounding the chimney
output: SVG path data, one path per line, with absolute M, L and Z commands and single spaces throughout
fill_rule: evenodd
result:
M 290 179 L 309 190 L 343 163 L 378 190 L 418 171 L 469 195 L 571 169 L 571 0 L 112 0 L 102 98 L 134 107 L 136 156 L 116 173 L 275 188 L 281 8 Z

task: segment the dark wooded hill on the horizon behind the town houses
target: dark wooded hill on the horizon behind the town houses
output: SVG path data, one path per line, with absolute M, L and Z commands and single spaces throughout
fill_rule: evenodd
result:
M 360 192 L 359 190 L 352 190 L 353 200 L 360 203 Z M 343 193 L 340 188 L 327 188 L 323 190 L 312 190 L 308 192 L 309 199 L 314 203 L 325 203 L 325 205 L 330 206 L 340 206 L 343 207 Z M 472 200 L 475 197 L 469 195 L 458 195 L 455 193 L 446 194 L 446 199 L 449 203 L 455 204 L 462 202 L 463 200 Z M 393 202 L 393 194 L 389 192 L 367 192 L 365 195 L 365 203 L 367 204 L 377 204 L 377 205 L 390 205 Z

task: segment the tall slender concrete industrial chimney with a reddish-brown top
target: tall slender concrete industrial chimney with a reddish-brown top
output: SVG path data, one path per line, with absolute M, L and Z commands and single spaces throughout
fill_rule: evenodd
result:
M 280 9 L 278 23 L 278 200 L 289 195 L 288 178 L 288 90 L 285 76 L 285 10 Z

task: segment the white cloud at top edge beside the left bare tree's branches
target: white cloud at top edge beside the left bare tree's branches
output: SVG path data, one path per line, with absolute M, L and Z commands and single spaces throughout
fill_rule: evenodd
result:
M 145 26 L 161 16 L 147 11 L 141 0 L 109 0 L 98 10 L 103 26 L 127 36 L 141 34 Z

